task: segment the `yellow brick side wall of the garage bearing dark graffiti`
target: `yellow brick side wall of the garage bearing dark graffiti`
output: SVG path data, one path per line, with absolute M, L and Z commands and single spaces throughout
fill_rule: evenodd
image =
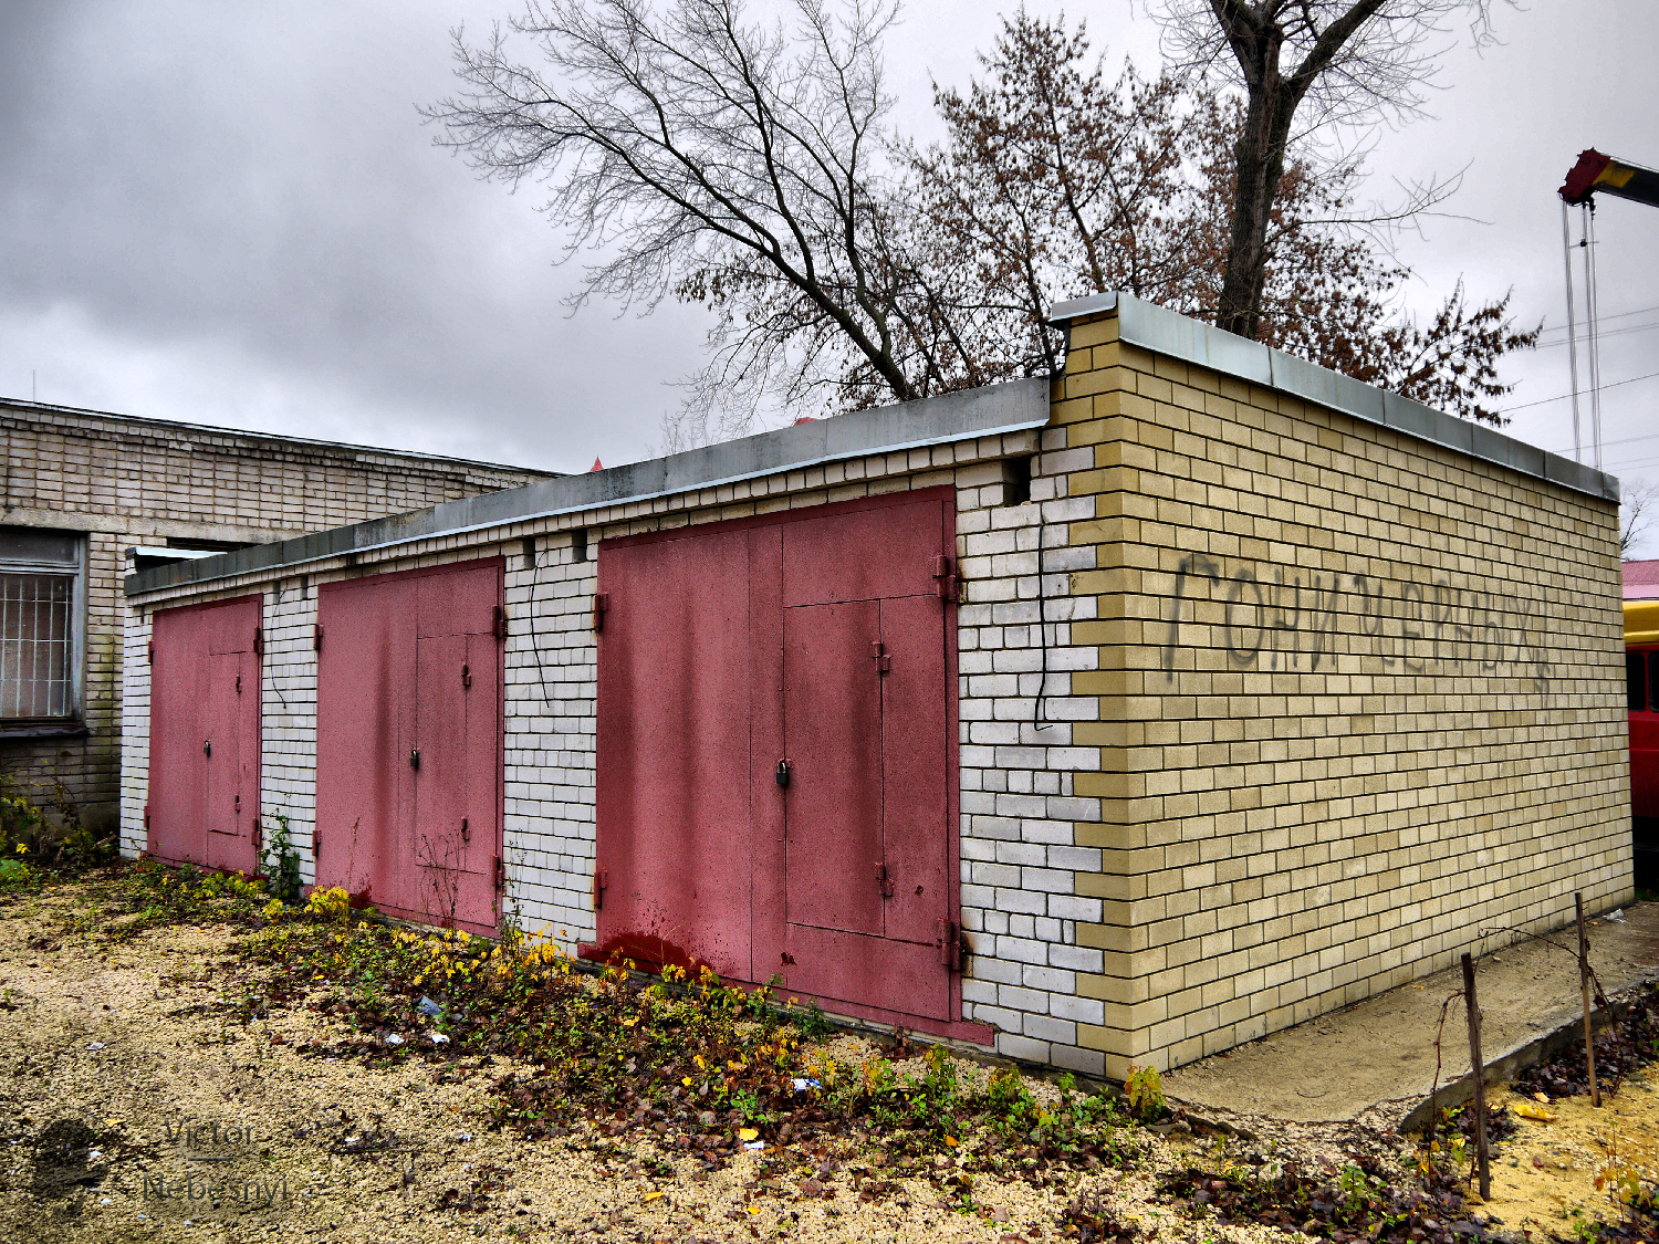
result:
M 1618 508 L 1073 323 L 1080 1045 L 1173 1067 L 1631 896 Z M 1496 934 L 1486 944 L 1503 944 Z

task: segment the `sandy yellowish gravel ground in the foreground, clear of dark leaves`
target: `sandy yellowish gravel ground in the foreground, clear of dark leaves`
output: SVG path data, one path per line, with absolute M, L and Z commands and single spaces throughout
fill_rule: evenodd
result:
M 1194 1221 L 1156 1198 L 1158 1176 L 1213 1156 L 1201 1136 L 1146 1135 L 1135 1169 L 1065 1186 L 980 1176 L 972 1206 L 946 1203 L 868 1136 L 848 1135 L 816 1169 L 801 1154 L 745 1153 L 708 1173 L 586 1125 L 526 1143 L 489 1130 L 503 1058 L 408 1060 L 390 1070 L 305 1057 L 337 1037 L 309 1010 L 227 1023 L 216 1003 L 226 927 L 166 927 L 126 944 L 65 934 L 73 887 L 0 906 L 0 1241 L 1063 1241 L 1062 1211 L 1095 1193 L 1145 1239 L 1259 1244 L 1259 1226 Z M 839 1037 L 848 1043 L 856 1038 Z M 984 1068 L 975 1068 L 984 1073 Z M 1047 1090 L 1052 1091 L 1052 1090 Z M 1629 1085 L 1611 1111 L 1523 1123 L 1498 1156 L 1490 1212 L 1568 1237 L 1563 1208 L 1596 1212 L 1598 1141 L 1619 1120 L 1621 1153 L 1652 1161 L 1659 1090 Z M 1586 1106 L 1588 1111 L 1588 1106 Z M 1598 1131 L 1601 1128 L 1601 1131 Z M 1646 1146 L 1646 1148 L 1637 1148 Z M 1385 1131 L 1286 1125 L 1233 1140 L 1231 1159 L 1399 1161 Z M 1535 1164 L 1533 1156 L 1543 1163 Z M 1515 1164 L 1510 1164 L 1510 1161 Z M 949 1161 L 941 1158 L 937 1161 Z M 1569 1166 L 1561 1166 L 1561 1163 Z M 803 1178 L 805 1174 L 805 1178 Z M 863 1199 L 864 1179 L 898 1194 Z M 1606 1194 L 1599 1194 L 1606 1206 Z M 1495 1226 L 1495 1224 L 1493 1224 Z

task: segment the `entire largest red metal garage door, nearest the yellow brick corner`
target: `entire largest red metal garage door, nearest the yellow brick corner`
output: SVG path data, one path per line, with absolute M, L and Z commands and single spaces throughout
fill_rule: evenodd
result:
M 601 957 L 961 1013 L 952 514 L 934 491 L 601 546 Z

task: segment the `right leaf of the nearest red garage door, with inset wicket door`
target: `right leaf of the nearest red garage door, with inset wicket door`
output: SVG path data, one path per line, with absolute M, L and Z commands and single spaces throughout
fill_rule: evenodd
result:
M 783 529 L 783 980 L 932 1020 L 954 1018 L 944 537 L 939 503 Z

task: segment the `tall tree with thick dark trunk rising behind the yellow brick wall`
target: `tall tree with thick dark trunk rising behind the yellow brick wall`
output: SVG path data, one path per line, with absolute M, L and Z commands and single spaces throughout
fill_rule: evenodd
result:
M 1490 0 L 1161 0 L 1155 8 L 1178 61 L 1214 66 L 1244 91 L 1216 323 L 1254 338 L 1297 111 L 1307 104 L 1304 134 L 1417 113 L 1445 50 L 1445 22 L 1467 10 L 1477 43 L 1486 43 Z

